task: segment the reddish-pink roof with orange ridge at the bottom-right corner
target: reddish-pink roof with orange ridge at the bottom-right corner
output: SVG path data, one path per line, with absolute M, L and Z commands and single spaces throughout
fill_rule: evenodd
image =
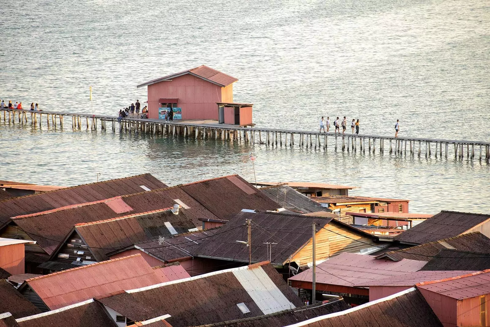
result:
M 443 280 L 421 282 L 417 287 L 457 300 L 490 294 L 490 269 Z

